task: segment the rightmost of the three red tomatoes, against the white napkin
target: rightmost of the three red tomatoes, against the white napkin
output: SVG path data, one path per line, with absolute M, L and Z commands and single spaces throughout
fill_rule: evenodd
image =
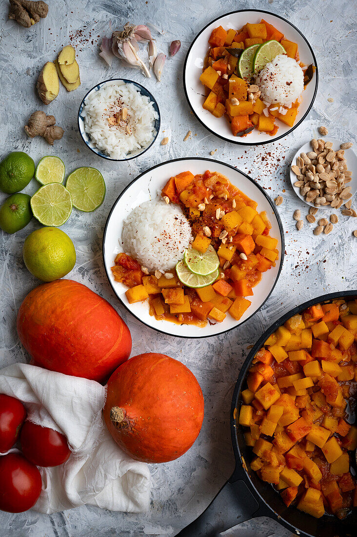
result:
M 25 457 L 37 466 L 62 465 L 71 454 L 64 434 L 27 420 L 21 430 L 20 442 Z

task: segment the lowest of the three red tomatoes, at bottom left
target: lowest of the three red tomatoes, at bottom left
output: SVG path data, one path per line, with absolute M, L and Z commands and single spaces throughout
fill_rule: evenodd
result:
M 21 513 L 37 502 L 42 488 L 39 470 L 19 453 L 0 456 L 0 509 Z

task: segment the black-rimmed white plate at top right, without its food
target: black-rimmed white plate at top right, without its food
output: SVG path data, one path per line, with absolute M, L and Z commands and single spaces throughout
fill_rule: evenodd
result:
M 203 110 L 202 104 L 206 97 L 205 89 L 199 78 L 202 74 L 203 62 L 205 61 L 209 47 L 208 39 L 214 28 L 223 26 L 225 30 L 228 30 L 229 28 L 238 30 L 246 23 L 257 24 L 261 19 L 264 19 L 267 23 L 275 26 L 285 35 L 286 39 L 297 43 L 300 60 L 306 65 L 313 64 L 316 67 L 316 70 L 311 81 L 303 91 L 302 103 L 298 108 L 296 122 L 293 127 L 289 127 L 278 120 L 279 130 L 274 136 L 270 136 L 267 133 L 259 132 L 258 129 L 254 129 L 250 134 L 243 138 L 232 134 L 227 118 L 216 118 L 208 110 Z M 242 146 L 260 146 L 265 143 L 280 140 L 280 138 L 293 132 L 305 117 L 307 117 L 316 97 L 317 86 L 317 62 L 308 40 L 300 30 L 288 20 L 263 10 L 232 11 L 231 13 L 227 13 L 210 22 L 193 40 L 191 47 L 188 49 L 184 64 L 184 90 L 188 104 L 191 106 L 196 118 L 215 136 L 220 137 L 222 140 L 227 140 L 228 142 L 241 144 Z

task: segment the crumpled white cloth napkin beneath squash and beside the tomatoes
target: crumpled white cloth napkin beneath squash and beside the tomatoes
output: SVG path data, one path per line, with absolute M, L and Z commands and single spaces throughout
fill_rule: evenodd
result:
M 123 453 L 101 419 L 105 387 L 13 364 L 0 370 L 0 393 L 22 401 L 32 422 L 65 434 L 72 451 L 63 465 L 39 468 L 42 492 L 35 511 L 50 514 L 84 504 L 133 513 L 149 509 L 148 465 Z

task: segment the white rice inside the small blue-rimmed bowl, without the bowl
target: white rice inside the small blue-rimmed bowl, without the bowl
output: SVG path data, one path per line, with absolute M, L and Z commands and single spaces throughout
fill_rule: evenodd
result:
M 123 108 L 127 119 L 111 125 Z M 156 134 L 157 112 L 148 97 L 134 84 L 113 82 L 87 98 L 83 108 L 85 132 L 98 149 L 112 158 L 125 158 L 133 151 L 147 147 Z M 111 118 L 111 119 L 110 119 Z M 108 121 L 109 120 L 109 121 Z

